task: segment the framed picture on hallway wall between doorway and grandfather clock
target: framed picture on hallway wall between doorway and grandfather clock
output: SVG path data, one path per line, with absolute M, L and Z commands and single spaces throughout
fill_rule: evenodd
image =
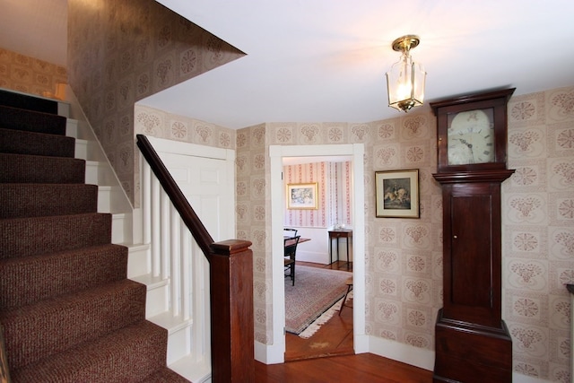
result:
M 378 218 L 420 218 L 419 170 L 375 172 Z

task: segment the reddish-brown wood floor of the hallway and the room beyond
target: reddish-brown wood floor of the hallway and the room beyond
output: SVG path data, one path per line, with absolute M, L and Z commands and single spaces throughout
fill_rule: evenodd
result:
M 297 265 L 347 270 L 346 262 Z M 350 267 L 352 271 L 352 266 Z M 352 300 L 348 301 L 352 304 Z M 352 347 L 352 309 L 335 314 L 309 339 L 285 335 L 285 363 L 265 365 L 256 361 L 256 381 L 265 382 L 431 382 L 432 372 L 372 353 L 355 355 Z

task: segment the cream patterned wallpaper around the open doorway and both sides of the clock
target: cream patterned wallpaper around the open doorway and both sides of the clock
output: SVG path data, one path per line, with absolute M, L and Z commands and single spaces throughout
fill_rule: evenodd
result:
M 267 123 L 238 131 L 238 236 L 254 242 L 256 340 L 273 343 L 267 150 L 271 144 L 365 145 L 367 332 L 434 350 L 442 306 L 442 196 L 428 106 L 365 124 Z M 375 218 L 376 170 L 420 170 L 421 218 Z M 503 318 L 513 369 L 566 382 L 574 283 L 574 87 L 509 101 L 503 183 Z

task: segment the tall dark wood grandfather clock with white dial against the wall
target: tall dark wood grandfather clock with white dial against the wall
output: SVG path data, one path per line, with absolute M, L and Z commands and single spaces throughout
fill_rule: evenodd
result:
M 442 187 L 444 306 L 435 326 L 435 382 L 512 381 L 501 318 L 500 184 L 514 89 L 431 102 Z

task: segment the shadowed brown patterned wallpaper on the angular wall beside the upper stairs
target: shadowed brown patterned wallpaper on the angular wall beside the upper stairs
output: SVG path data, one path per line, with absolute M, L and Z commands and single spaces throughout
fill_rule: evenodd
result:
M 135 102 L 242 56 L 153 0 L 68 0 L 70 86 L 133 202 Z

